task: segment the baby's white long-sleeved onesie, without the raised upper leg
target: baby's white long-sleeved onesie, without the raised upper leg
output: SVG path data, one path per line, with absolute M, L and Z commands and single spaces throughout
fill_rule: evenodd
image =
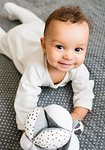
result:
M 84 64 L 67 72 L 61 83 L 53 84 L 40 45 L 43 30 L 44 24 L 40 26 L 36 22 L 22 24 L 11 29 L 0 41 L 1 52 L 13 60 L 22 74 L 14 103 L 20 130 L 24 130 L 26 115 L 37 106 L 41 86 L 58 88 L 71 80 L 74 107 L 92 109 L 94 82 L 89 80 L 89 72 Z

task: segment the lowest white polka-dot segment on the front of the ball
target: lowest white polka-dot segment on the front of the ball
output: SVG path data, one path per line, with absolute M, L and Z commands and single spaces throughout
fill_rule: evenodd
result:
M 45 149 L 54 149 L 64 146 L 70 139 L 71 133 L 60 128 L 42 130 L 35 138 L 34 144 Z

